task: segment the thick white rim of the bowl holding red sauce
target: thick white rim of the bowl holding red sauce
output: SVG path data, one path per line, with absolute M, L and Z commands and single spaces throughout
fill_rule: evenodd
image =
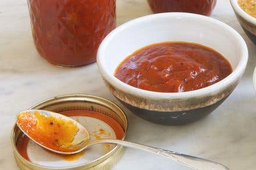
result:
M 115 37 L 116 34 L 120 34 L 119 32 L 122 32 L 122 30 L 125 30 L 127 27 L 136 26 L 137 24 L 143 23 L 143 21 L 151 20 L 151 19 L 157 19 L 162 17 L 171 17 L 171 18 L 177 18 L 179 19 L 181 17 L 191 18 L 191 19 L 201 19 L 206 22 L 216 24 L 219 27 L 225 28 L 225 30 L 228 30 L 230 33 L 232 33 L 233 37 L 236 37 L 239 41 L 239 44 L 241 46 L 241 59 L 239 63 L 237 64 L 236 69 L 233 70 L 233 72 L 228 75 L 226 78 L 222 79 L 221 81 L 217 82 L 216 84 L 207 86 L 205 88 L 197 89 L 195 91 L 188 91 L 188 92 L 180 92 L 180 93 L 164 93 L 164 92 L 152 92 L 152 91 L 146 91 L 143 89 L 136 88 L 134 86 L 125 84 L 125 82 L 120 81 L 118 78 L 116 78 L 113 74 L 109 74 L 109 71 L 107 70 L 106 66 L 104 65 L 103 59 L 105 56 L 105 50 L 106 46 L 109 44 L 109 41 L 111 41 L 112 37 Z M 211 47 L 210 47 L 211 48 Z M 143 98 L 150 98 L 155 100 L 162 100 L 162 99 L 187 99 L 189 97 L 195 97 L 195 96 L 206 96 L 208 94 L 214 94 L 215 92 L 221 91 L 223 88 L 227 88 L 236 78 L 238 78 L 241 74 L 243 74 L 248 60 L 248 49 L 246 42 L 241 37 L 241 35 L 234 30 L 232 27 L 228 26 L 225 23 L 222 23 L 219 20 L 212 19 L 211 17 L 197 15 L 193 13 L 180 13 L 180 12 L 169 12 L 169 13 L 157 13 L 153 15 L 147 15 L 143 17 L 138 17 L 137 19 L 130 20 L 127 23 L 122 24 L 121 26 L 115 28 L 112 32 L 110 32 L 104 40 L 101 42 L 101 45 L 99 45 L 98 52 L 97 52 L 97 65 L 99 72 L 101 73 L 102 78 L 106 79 L 110 84 L 115 83 L 115 88 L 118 88 L 120 91 L 126 91 L 133 95 L 136 95 L 138 97 Z M 217 101 L 216 101 L 217 102 Z

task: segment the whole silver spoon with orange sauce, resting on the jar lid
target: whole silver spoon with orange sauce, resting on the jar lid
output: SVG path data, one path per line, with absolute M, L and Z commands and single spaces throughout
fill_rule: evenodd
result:
M 162 155 L 193 169 L 228 169 L 214 161 L 124 140 L 101 139 L 91 141 L 90 134 L 83 125 L 72 118 L 51 111 L 22 111 L 17 114 L 16 123 L 31 140 L 56 154 L 76 154 L 93 146 L 93 144 L 111 143 Z

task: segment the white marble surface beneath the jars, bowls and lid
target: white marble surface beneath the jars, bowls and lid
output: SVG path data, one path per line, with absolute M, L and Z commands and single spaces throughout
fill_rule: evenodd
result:
M 150 13 L 145 0 L 117 1 L 118 24 Z M 124 108 L 129 119 L 126 140 L 197 155 L 230 169 L 256 169 L 256 96 L 252 81 L 256 48 L 244 34 L 228 0 L 219 0 L 211 17 L 229 24 L 246 40 L 250 56 L 240 84 L 214 113 L 185 126 L 152 124 Z M 0 169 L 17 169 L 10 145 L 17 112 L 49 97 L 72 93 L 105 97 L 121 106 L 106 89 L 95 63 L 60 68 L 38 56 L 24 0 L 0 1 L 0 61 Z M 113 169 L 187 168 L 167 158 L 127 149 Z

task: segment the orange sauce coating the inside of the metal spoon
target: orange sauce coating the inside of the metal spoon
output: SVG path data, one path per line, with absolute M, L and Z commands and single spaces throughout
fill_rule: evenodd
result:
M 28 112 L 19 114 L 17 122 L 31 138 L 57 151 L 72 151 L 69 147 L 79 131 L 72 121 L 46 116 L 38 111 L 34 114 Z

